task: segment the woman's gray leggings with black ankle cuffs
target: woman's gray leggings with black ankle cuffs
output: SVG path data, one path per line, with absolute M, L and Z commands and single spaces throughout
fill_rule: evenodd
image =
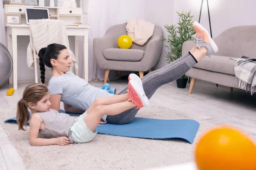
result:
M 162 85 L 165 85 L 166 83 L 175 81 L 176 79 L 180 78 L 196 63 L 197 60 L 189 52 L 185 56 L 180 57 L 174 62 L 171 62 L 169 65 L 150 72 L 141 79 L 143 82 L 145 95 L 148 97 L 148 99 L 150 99 L 158 88 L 160 88 Z M 127 89 L 128 87 L 122 90 L 119 94 L 126 94 Z M 137 112 L 137 109 L 131 108 L 118 115 L 107 116 L 107 121 L 111 124 L 130 123 L 134 120 Z

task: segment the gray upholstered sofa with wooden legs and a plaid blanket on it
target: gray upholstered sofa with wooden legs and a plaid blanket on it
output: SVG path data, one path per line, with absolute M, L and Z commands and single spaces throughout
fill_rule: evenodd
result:
M 212 54 L 211 57 L 205 57 L 186 73 L 186 76 L 192 78 L 189 94 L 192 93 L 196 79 L 230 87 L 231 91 L 233 88 L 239 88 L 235 85 L 234 65 L 236 61 L 230 57 L 256 57 L 256 26 L 229 28 L 215 37 L 214 42 L 218 46 L 218 52 Z M 184 42 L 182 55 L 194 46 L 195 43 L 192 41 Z

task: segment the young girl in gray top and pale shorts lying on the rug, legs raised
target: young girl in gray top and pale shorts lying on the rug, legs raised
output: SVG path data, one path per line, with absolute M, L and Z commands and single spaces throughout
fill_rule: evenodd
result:
M 116 115 L 149 105 L 140 79 L 130 80 L 128 86 L 127 94 L 97 98 L 86 112 L 74 117 L 51 109 L 47 86 L 41 83 L 28 85 L 17 104 L 19 130 L 25 130 L 24 125 L 30 119 L 29 142 L 32 146 L 90 142 L 103 115 Z

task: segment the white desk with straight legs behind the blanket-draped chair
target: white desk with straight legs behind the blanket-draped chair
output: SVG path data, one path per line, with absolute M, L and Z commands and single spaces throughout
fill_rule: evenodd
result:
M 17 36 L 29 36 L 29 25 L 6 25 L 7 27 L 7 39 L 8 50 L 12 55 L 13 71 L 9 79 L 9 84 L 13 83 L 13 88 L 17 89 Z M 84 79 L 88 81 L 88 28 L 90 26 L 66 26 L 67 35 L 75 36 L 75 57 L 77 65 L 79 64 L 79 36 L 83 36 L 83 48 L 84 48 Z M 26 50 L 26 49 L 24 49 Z M 35 64 L 36 66 L 36 64 Z M 36 68 L 35 68 L 36 70 Z M 75 74 L 78 76 L 78 68 L 76 68 Z M 36 73 L 36 71 L 35 71 Z M 35 75 L 37 80 L 38 75 Z

